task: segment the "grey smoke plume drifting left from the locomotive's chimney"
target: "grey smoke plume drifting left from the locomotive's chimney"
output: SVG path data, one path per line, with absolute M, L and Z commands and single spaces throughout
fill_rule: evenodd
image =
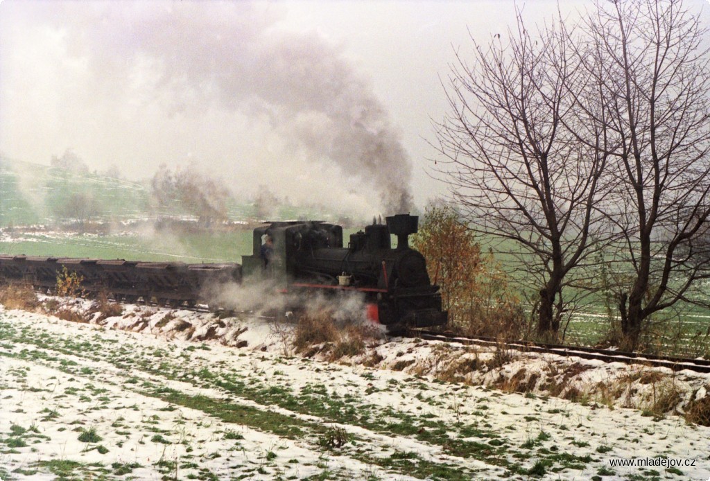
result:
M 410 210 L 411 162 L 371 84 L 320 35 L 277 28 L 268 4 L 43 2 L 37 15 L 88 60 L 97 96 L 147 82 L 161 94 L 142 101 L 173 116 L 259 118 L 289 148 L 370 185 L 386 211 Z

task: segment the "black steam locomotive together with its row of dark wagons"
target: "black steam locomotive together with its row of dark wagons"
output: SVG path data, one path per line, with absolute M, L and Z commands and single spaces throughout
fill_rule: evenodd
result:
M 359 292 L 370 319 L 390 331 L 447 323 L 439 287 L 430 283 L 424 257 L 409 247 L 417 216 L 400 214 L 351 234 L 343 245 L 342 226 L 321 221 L 271 222 L 253 231 L 253 253 L 242 265 L 138 262 L 25 255 L 0 255 L 0 282 L 28 282 L 52 291 L 58 276 L 82 277 L 82 289 L 106 292 L 126 302 L 195 306 L 207 292 L 228 282 L 268 280 L 281 293 Z M 391 235 L 397 236 L 392 248 Z M 268 258 L 263 244 L 273 242 Z

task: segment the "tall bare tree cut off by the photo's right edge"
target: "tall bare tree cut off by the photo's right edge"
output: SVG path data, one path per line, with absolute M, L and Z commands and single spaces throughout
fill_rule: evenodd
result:
M 611 159 L 603 209 L 623 236 L 614 258 L 633 272 L 618 309 L 635 348 L 652 314 L 699 302 L 692 289 L 710 276 L 700 238 L 710 214 L 708 31 L 681 0 L 598 3 L 582 28 L 581 67 L 596 92 L 581 116 Z

